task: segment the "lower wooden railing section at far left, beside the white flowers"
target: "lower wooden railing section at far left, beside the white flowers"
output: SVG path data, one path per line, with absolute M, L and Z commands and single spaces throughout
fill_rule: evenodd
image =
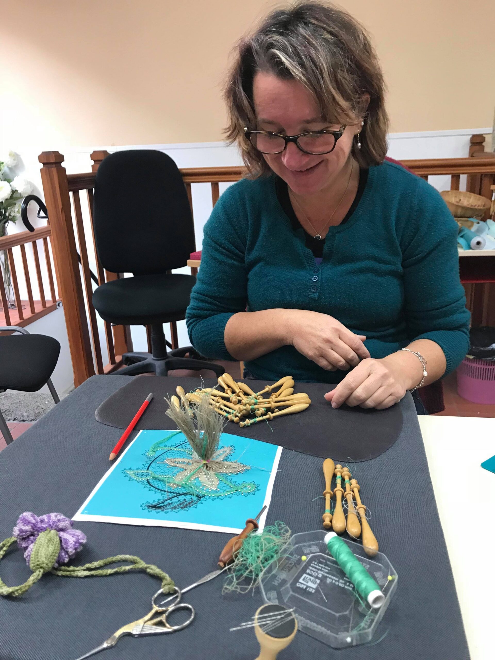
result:
M 11 236 L 0 237 L 0 251 L 4 255 L 7 253 L 7 265 L 11 275 L 15 301 L 13 304 L 9 304 L 11 302 L 9 300 L 10 292 L 7 291 L 0 273 L 1 325 L 20 325 L 24 327 L 42 316 L 49 314 L 49 312 L 53 312 L 57 307 L 57 294 L 55 291 L 55 280 L 53 278 L 49 248 L 50 236 L 51 228 L 49 225 L 46 225 L 36 228 L 34 232 L 18 232 L 17 234 L 11 234 Z M 40 261 L 38 241 L 41 241 L 43 244 L 44 264 Z M 28 244 L 31 244 L 30 249 L 32 249 L 34 270 L 36 271 L 36 283 L 38 285 L 36 298 L 33 294 L 32 273 L 30 273 L 28 253 L 26 253 L 26 246 Z M 16 248 L 18 248 L 20 253 L 22 274 L 18 274 L 16 268 Z M 46 279 L 48 279 L 49 292 L 45 291 L 44 273 L 46 274 Z M 20 290 L 26 291 L 28 300 L 22 300 Z

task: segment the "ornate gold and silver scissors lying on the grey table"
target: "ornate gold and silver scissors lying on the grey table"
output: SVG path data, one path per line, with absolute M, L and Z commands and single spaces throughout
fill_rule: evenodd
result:
M 201 578 L 197 582 L 189 585 L 189 587 L 185 587 L 185 589 L 181 590 L 179 587 L 174 587 L 174 593 L 172 593 L 172 595 L 168 596 L 168 598 L 162 602 L 158 602 L 157 599 L 160 597 L 160 595 L 163 594 L 163 589 L 158 589 L 158 591 L 151 599 L 152 609 L 146 616 L 128 623 L 127 626 L 122 626 L 119 628 L 119 630 L 114 632 L 112 637 L 109 637 L 108 640 L 103 642 L 103 644 L 100 644 L 100 646 L 97 646 L 89 653 L 86 653 L 86 655 L 81 655 L 81 657 L 79 657 L 77 660 L 84 660 L 84 658 L 95 655 L 100 651 L 112 648 L 112 646 L 115 646 L 119 639 L 124 635 L 132 635 L 133 637 L 162 635 L 167 632 L 177 632 L 178 630 L 187 628 L 187 626 L 193 622 L 195 611 L 192 605 L 180 602 L 182 594 L 186 591 L 189 591 L 189 589 L 193 589 L 194 587 L 197 587 L 204 582 L 208 582 L 209 580 L 216 578 L 216 576 L 220 575 L 223 570 L 224 569 L 213 571 L 212 573 L 206 575 L 204 578 Z M 166 603 L 169 603 L 170 601 L 172 601 L 172 603 L 170 603 L 170 605 L 166 605 Z M 172 612 L 177 612 L 178 610 L 187 610 L 190 612 L 191 616 L 189 616 L 187 621 L 183 622 L 182 624 L 178 626 L 172 626 L 168 623 L 168 616 L 172 614 Z M 159 616 L 155 616 L 156 614 Z

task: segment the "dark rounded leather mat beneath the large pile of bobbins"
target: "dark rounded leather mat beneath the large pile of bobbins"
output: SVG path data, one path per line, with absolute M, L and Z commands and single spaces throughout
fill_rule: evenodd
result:
M 205 379 L 205 387 L 213 387 L 216 380 Z M 267 381 L 249 380 L 253 391 L 261 391 Z M 176 393 L 177 385 L 186 392 L 201 386 L 197 378 L 135 378 L 112 394 L 96 410 L 98 422 L 126 428 L 149 393 L 154 399 L 137 424 L 137 429 L 170 428 L 166 416 L 168 405 L 164 397 Z M 269 424 L 257 422 L 248 428 L 228 422 L 226 432 L 236 436 L 263 440 L 271 444 L 302 451 L 337 461 L 368 461 L 380 456 L 399 437 L 403 424 L 405 400 L 384 411 L 349 408 L 334 410 L 323 399 L 332 389 L 327 383 L 296 383 L 294 392 L 306 392 L 312 401 L 302 413 L 277 417 Z M 411 395 L 407 395 L 411 399 Z M 412 401 L 412 399 L 411 399 Z

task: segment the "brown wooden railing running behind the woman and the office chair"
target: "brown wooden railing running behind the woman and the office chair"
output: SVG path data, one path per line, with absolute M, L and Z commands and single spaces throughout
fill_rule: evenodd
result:
M 98 333 L 98 319 L 92 306 L 92 284 L 90 279 L 90 258 L 96 264 L 98 284 L 122 277 L 119 273 L 105 271 L 98 261 L 94 246 L 92 231 L 92 203 L 95 172 L 100 162 L 107 155 L 104 151 L 94 151 L 92 172 L 69 174 L 62 166 L 63 156 L 59 152 L 43 152 L 39 160 L 45 193 L 46 206 L 50 218 L 52 246 L 59 290 L 65 310 L 65 323 L 69 337 L 69 347 L 73 362 L 76 387 L 86 378 L 95 373 L 112 372 L 121 366 L 121 356 L 124 352 L 133 350 L 129 327 L 110 327 L 104 323 L 104 335 L 108 353 L 108 363 L 104 364 L 102 347 Z M 438 174 L 450 176 L 451 189 L 458 189 L 461 176 L 467 174 L 479 177 L 482 188 L 495 183 L 494 158 L 451 158 L 436 160 L 408 160 L 405 164 L 422 178 Z M 215 205 L 219 197 L 218 184 L 235 182 L 242 178 L 242 167 L 218 168 L 186 168 L 181 170 L 191 211 L 193 211 L 193 196 L 191 185 L 195 183 L 210 183 L 212 203 Z M 473 181 L 474 179 L 471 179 Z M 84 207 L 81 191 L 85 192 Z M 84 216 L 86 222 L 84 222 Z M 81 271 L 77 260 L 77 248 L 81 255 Z M 493 261 L 495 265 L 495 259 Z M 495 281 L 495 278 L 494 278 Z M 473 292 L 476 286 L 484 284 L 469 284 Z M 467 291 L 468 292 L 468 291 Z M 479 296 L 469 291 L 469 304 L 479 304 Z M 483 294 L 484 295 L 484 294 Z M 486 297 L 486 296 L 485 296 Z M 484 298 L 483 298 L 484 300 Z M 485 301 L 486 302 L 486 301 Z M 495 314 L 495 305 L 491 305 Z M 482 319 L 488 317 L 482 312 Z M 492 325 L 495 325 L 495 318 Z

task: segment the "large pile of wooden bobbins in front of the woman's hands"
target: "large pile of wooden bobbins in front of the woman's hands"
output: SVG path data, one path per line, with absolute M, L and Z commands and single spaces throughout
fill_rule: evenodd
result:
M 216 412 L 241 428 L 282 415 L 301 413 L 311 404 L 307 394 L 294 394 L 292 376 L 284 376 L 259 392 L 254 392 L 246 383 L 236 382 L 230 374 L 218 376 L 218 385 L 222 389 L 205 387 L 189 393 L 178 387 L 177 393 L 187 401 L 198 401 L 201 395 L 207 394 Z

